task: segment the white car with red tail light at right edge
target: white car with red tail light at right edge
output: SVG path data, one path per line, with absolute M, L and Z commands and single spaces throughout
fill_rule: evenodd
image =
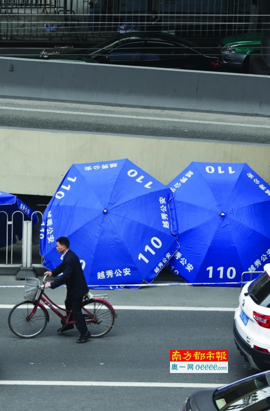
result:
M 240 354 L 262 371 L 270 369 L 270 263 L 263 269 L 242 288 L 233 324 Z

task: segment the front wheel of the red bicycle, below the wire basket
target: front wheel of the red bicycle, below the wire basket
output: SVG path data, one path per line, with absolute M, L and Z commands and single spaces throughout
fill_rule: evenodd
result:
M 21 338 L 32 338 L 40 334 L 47 325 L 47 313 L 42 305 L 38 305 L 34 315 L 29 315 L 35 305 L 34 301 L 22 301 L 15 305 L 8 315 L 10 330 Z

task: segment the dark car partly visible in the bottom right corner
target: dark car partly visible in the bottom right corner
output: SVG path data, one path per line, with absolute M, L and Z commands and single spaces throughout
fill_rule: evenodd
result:
M 252 375 L 219 389 L 192 392 L 183 411 L 266 411 L 270 409 L 270 372 Z

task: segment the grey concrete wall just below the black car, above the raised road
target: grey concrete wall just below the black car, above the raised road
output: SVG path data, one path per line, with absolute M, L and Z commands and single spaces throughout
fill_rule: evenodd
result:
M 0 73 L 0 97 L 270 115 L 266 75 L 9 57 Z

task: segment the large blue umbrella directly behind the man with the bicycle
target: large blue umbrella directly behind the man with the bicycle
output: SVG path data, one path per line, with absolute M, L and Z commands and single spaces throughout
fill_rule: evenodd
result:
M 73 164 L 44 212 L 44 265 L 61 262 L 67 236 L 88 285 L 150 282 L 178 249 L 169 203 L 171 190 L 128 159 Z

